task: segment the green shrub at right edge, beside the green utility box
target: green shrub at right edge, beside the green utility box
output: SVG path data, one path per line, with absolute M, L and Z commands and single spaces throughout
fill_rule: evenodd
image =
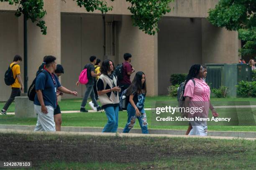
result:
M 256 97 L 256 81 L 248 82 L 241 81 L 238 82 L 237 95 L 239 97 Z

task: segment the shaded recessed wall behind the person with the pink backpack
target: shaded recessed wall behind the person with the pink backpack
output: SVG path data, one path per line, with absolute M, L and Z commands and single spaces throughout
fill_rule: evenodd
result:
M 75 83 L 84 65 L 90 63 L 90 56 L 103 59 L 103 21 L 101 15 L 61 14 L 61 64 L 64 74 L 61 85 L 77 90 L 82 97 L 85 86 Z M 62 98 L 74 98 L 64 95 Z

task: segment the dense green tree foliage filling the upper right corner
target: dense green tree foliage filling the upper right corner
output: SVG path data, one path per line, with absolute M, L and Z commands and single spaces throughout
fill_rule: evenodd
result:
M 220 0 L 208 13 L 210 23 L 238 31 L 246 41 L 239 50 L 242 56 L 256 54 L 256 0 Z

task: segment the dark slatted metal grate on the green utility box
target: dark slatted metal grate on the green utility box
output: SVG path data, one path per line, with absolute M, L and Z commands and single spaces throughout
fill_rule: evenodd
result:
M 221 81 L 221 68 L 207 68 L 206 82 L 211 89 L 219 89 Z

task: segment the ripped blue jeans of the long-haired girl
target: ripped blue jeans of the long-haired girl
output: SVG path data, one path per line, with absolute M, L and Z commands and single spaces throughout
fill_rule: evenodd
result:
M 130 103 L 128 103 L 128 106 L 127 106 L 128 120 L 127 120 L 127 124 L 125 125 L 125 128 L 123 129 L 123 133 L 129 133 L 129 131 L 133 128 L 136 122 L 136 117 L 140 123 L 142 133 L 148 133 L 148 123 L 147 123 L 147 117 L 146 117 L 146 112 L 144 108 L 140 112 L 141 112 L 141 116 L 139 117 L 136 116 L 135 109 Z

